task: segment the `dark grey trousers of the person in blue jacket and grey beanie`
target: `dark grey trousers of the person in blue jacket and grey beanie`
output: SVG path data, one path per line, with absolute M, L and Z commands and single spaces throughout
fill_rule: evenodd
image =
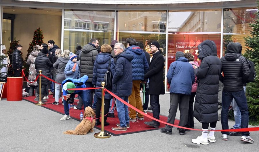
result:
M 180 122 L 179 126 L 185 126 L 188 120 L 188 110 L 189 110 L 189 100 L 190 95 L 184 95 L 179 93 L 170 93 L 170 109 L 169 109 L 169 116 L 167 118 L 167 123 L 174 124 L 176 112 L 178 109 L 180 110 Z M 172 130 L 173 126 L 165 125 L 166 130 Z M 185 131 L 185 129 L 181 129 Z

